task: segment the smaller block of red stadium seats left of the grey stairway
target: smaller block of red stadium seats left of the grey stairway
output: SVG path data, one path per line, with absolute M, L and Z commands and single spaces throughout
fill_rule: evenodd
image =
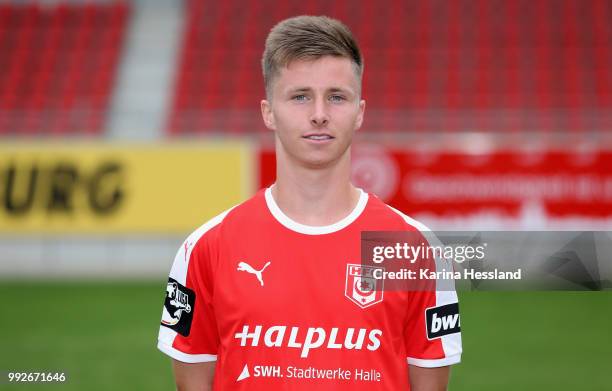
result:
M 0 135 L 99 134 L 130 7 L 0 4 Z

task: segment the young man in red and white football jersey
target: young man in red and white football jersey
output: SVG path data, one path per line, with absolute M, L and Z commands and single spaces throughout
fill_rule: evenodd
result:
M 350 182 L 365 109 L 353 36 L 327 17 L 287 19 L 262 62 L 276 183 L 176 256 L 158 347 L 179 390 L 445 390 L 459 328 L 428 339 L 425 311 L 456 307 L 455 292 L 375 294 L 360 274 L 361 232 L 425 228 Z

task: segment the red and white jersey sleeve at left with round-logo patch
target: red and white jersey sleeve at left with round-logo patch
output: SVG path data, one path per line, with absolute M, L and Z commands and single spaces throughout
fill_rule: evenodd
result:
M 210 272 L 213 233 L 198 236 L 187 238 L 174 259 L 157 344 L 165 354 L 187 363 L 216 361 L 219 347 Z

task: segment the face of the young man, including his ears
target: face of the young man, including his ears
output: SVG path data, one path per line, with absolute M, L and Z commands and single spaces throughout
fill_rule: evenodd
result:
M 292 61 L 274 78 L 270 101 L 261 102 L 279 158 L 311 168 L 349 157 L 364 108 L 353 63 L 333 56 Z

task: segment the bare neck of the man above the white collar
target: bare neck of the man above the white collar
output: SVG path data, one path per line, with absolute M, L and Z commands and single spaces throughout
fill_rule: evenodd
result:
M 350 158 L 325 168 L 307 168 L 279 162 L 272 196 L 292 220 L 311 226 L 325 226 L 348 216 L 356 207 L 360 192 L 350 181 Z

